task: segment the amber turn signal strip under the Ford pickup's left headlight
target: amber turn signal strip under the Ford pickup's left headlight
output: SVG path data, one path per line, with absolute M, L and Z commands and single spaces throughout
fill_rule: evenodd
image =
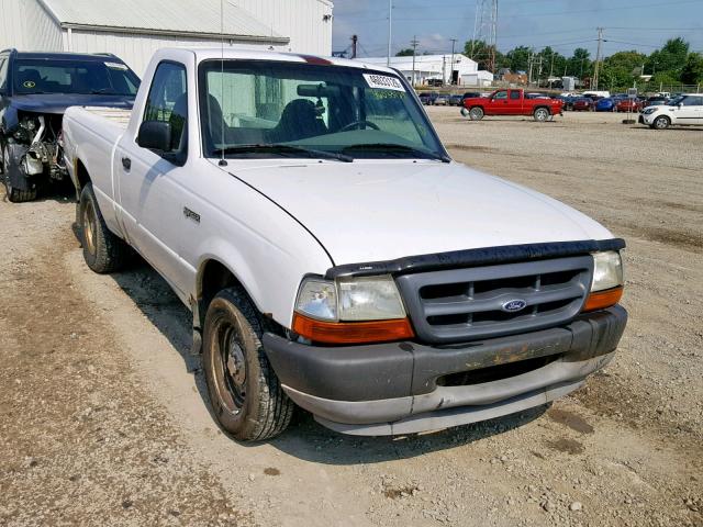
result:
M 315 343 L 367 344 L 413 338 L 408 318 L 372 322 L 322 322 L 293 314 L 293 332 Z

